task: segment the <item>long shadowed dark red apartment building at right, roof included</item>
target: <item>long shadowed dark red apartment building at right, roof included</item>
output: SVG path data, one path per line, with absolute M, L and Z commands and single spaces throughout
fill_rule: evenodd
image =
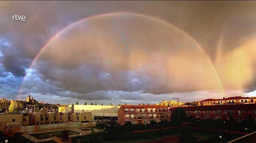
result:
M 256 122 L 256 104 L 208 105 L 194 107 L 180 107 L 186 111 L 187 116 L 198 119 L 229 120 L 230 116 L 237 122 L 248 120 L 251 116 Z M 176 108 L 170 108 L 170 114 Z

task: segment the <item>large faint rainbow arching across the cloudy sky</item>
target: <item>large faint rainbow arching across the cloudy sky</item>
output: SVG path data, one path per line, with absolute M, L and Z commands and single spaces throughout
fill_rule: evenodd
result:
M 31 69 L 33 67 L 33 65 L 36 63 L 37 59 L 40 57 L 40 55 L 44 52 L 44 50 L 47 48 L 47 46 L 52 42 L 54 41 L 56 38 L 58 38 L 58 36 L 60 36 L 61 34 L 63 34 L 66 30 L 68 29 L 71 29 L 75 26 L 77 26 L 78 24 L 86 21 L 86 20 L 93 20 L 93 19 L 98 19 L 98 18 L 105 18 L 107 16 L 126 16 L 126 15 L 132 15 L 132 16 L 139 16 L 139 17 L 142 17 L 142 18 L 148 18 L 148 19 L 152 19 L 152 20 L 155 20 L 157 22 L 160 22 L 162 24 L 166 24 L 168 26 L 171 26 L 172 28 L 175 28 L 179 31 L 181 31 L 182 33 L 186 34 L 189 38 L 191 38 L 195 44 L 202 50 L 202 52 L 205 54 L 206 56 L 206 59 L 207 61 L 209 61 L 211 63 L 211 67 L 214 71 L 214 74 L 216 75 L 216 77 L 218 77 L 218 81 L 222 87 L 222 91 L 224 93 L 224 88 L 223 88 L 223 84 L 221 83 L 221 80 L 219 78 L 219 75 L 210 59 L 210 57 L 205 53 L 205 51 L 201 48 L 201 46 L 197 43 L 197 41 L 195 39 L 193 39 L 188 33 L 186 33 L 185 31 L 177 28 L 176 26 L 166 22 L 165 20 L 162 20 L 162 19 L 159 19 L 159 18 L 155 18 L 155 17 L 152 17 L 152 16 L 148 16 L 148 15 L 143 15 L 143 14 L 137 14 L 137 13 L 131 13 L 131 12 L 117 12 L 117 13 L 106 13 L 106 14 L 100 14 L 100 15 L 93 15 L 93 16 L 90 16 L 90 17 L 86 17 L 86 18 L 83 18 L 81 20 L 78 20 L 74 23 L 71 23 L 69 25 L 67 25 L 66 27 L 64 27 L 63 29 L 61 29 L 60 31 L 58 31 L 54 36 L 51 37 L 51 39 L 49 41 L 47 41 L 47 43 L 45 43 L 45 45 L 41 48 L 41 50 L 38 52 L 38 54 L 35 56 L 35 58 L 33 59 L 33 61 L 31 62 L 31 64 L 29 65 L 29 68 L 28 69 Z M 23 81 L 22 81 L 22 84 L 20 85 L 20 88 L 19 88 L 19 92 L 18 92 L 18 97 L 17 99 L 20 99 L 20 93 L 22 91 L 22 88 L 23 88 L 23 85 L 24 85 L 24 79 L 23 78 Z

